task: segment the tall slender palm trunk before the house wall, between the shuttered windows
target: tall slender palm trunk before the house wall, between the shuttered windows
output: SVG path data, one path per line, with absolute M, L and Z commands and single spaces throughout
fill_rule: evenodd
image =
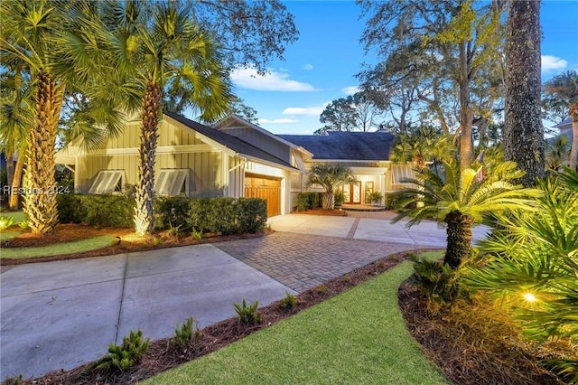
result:
M 159 85 L 152 81 L 146 85 L 135 196 L 135 232 L 141 236 L 151 234 L 154 230 L 154 163 L 162 96 Z

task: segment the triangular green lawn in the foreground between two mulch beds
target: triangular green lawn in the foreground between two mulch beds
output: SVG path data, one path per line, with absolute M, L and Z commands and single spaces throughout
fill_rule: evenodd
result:
M 397 287 L 411 273 L 405 262 L 144 384 L 446 384 L 397 305 Z

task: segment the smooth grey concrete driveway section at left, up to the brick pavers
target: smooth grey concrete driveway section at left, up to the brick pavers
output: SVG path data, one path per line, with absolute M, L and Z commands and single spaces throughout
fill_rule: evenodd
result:
M 190 316 L 199 327 L 295 293 L 212 245 L 3 268 L 1 377 L 39 376 L 98 359 L 141 329 L 171 336 Z

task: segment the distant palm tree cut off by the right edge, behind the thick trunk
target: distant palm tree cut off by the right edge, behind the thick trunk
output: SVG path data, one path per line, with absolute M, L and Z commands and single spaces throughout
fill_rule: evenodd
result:
M 545 82 L 545 104 L 549 108 L 565 109 L 572 117 L 572 149 L 569 166 L 578 164 L 578 71 L 569 70 Z

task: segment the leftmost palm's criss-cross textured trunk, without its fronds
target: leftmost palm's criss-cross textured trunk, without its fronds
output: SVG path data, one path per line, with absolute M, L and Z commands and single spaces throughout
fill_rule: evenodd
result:
M 35 234 L 49 234 L 58 224 L 54 155 L 62 87 L 42 71 L 37 79 L 36 121 L 28 136 L 24 212 Z

